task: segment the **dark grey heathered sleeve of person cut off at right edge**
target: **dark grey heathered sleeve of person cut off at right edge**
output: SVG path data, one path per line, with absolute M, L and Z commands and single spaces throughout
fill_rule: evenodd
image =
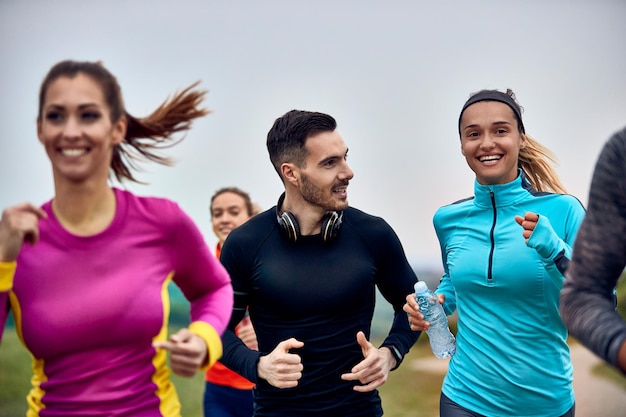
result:
M 613 289 L 626 265 L 625 248 L 626 129 L 605 144 L 596 164 L 560 305 L 570 333 L 622 372 L 626 322 L 615 311 Z

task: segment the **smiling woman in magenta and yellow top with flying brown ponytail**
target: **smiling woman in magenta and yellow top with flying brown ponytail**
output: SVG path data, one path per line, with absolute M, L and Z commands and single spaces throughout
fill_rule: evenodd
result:
M 135 181 L 137 159 L 169 163 L 155 150 L 207 114 L 194 87 L 138 119 L 100 63 L 63 61 L 44 79 L 37 135 L 55 195 L 0 220 L 0 329 L 10 309 L 33 357 L 27 416 L 180 416 L 167 351 L 182 376 L 221 356 L 228 274 L 175 203 L 108 182 Z M 171 280 L 191 324 L 168 337 Z

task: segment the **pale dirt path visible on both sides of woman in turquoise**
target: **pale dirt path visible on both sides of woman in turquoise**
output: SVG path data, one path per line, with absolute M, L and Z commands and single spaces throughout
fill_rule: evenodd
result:
M 626 389 L 593 374 L 593 368 L 602 361 L 578 344 L 571 346 L 571 355 L 574 363 L 576 417 L 626 417 Z M 421 372 L 445 373 L 448 361 L 421 358 L 414 360 L 411 366 Z

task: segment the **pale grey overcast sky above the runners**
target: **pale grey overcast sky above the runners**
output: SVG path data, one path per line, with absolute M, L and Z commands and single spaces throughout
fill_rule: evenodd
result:
M 53 196 L 35 126 L 50 66 L 101 60 L 135 116 L 197 80 L 209 90 L 177 165 L 144 165 L 150 185 L 127 187 L 177 201 L 211 245 L 212 193 L 236 185 L 273 206 L 267 131 L 313 110 L 350 148 L 350 204 L 438 266 L 432 216 L 473 190 L 457 133 L 471 92 L 512 88 L 586 204 L 602 144 L 626 125 L 624 22 L 623 0 L 0 0 L 0 207 Z

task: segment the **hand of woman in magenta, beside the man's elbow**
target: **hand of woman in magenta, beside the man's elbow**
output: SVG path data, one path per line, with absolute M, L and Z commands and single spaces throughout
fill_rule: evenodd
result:
M 207 360 L 207 346 L 200 336 L 189 329 L 180 329 L 169 341 L 154 342 L 153 347 L 170 351 L 172 371 L 180 376 L 192 377 Z

